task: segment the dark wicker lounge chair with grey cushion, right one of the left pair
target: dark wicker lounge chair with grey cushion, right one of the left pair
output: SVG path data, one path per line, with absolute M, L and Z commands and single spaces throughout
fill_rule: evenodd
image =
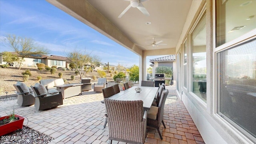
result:
M 45 87 L 42 84 L 38 86 L 38 83 L 35 84 L 35 86 L 30 87 L 32 88 L 35 94 L 36 101 L 34 106 L 37 110 L 46 110 L 63 104 L 61 91 L 52 90 L 52 92 L 45 92 Z M 45 90 L 42 90 L 43 88 Z M 44 92 L 42 93 L 42 91 Z

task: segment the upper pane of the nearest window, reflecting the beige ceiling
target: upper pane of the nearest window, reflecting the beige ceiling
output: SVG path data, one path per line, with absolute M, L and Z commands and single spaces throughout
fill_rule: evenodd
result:
M 216 46 L 253 30 L 255 14 L 255 0 L 216 0 Z

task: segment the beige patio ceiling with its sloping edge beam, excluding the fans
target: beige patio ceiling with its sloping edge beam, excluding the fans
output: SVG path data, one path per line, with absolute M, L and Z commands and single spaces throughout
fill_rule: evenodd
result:
M 54 6 L 106 35 L 115 42 L 142 55 L 142 51 L 168 49 L 175 54 L 192 0 L 148 0 L 142 4 L 150 16 L 131 7 L 121 18 L 118 16 L 130 4 L 125 0 L 48 0 Z M 146 22 L 151 24 L 146 25 Z M 147 46 L 153 39 L 162 44 Z M 170 51 L 170 48 L 172 50 Z M 165 50 L 161 50 L 165 49 Z M 166 54 L 166 53 L 165 53 Z

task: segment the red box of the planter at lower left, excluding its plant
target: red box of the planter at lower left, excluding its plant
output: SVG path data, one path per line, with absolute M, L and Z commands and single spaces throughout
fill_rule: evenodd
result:
M 6 117 L 8 116 L 1 117 L 0 120 L 4 120 Z M 0 136 L 3 136 L 18 129 L 22 129 L 24 118 L 16 114 L 15 117 L 19 118 L 19 120 L 15 120 L 14 122 L 0 126 Z

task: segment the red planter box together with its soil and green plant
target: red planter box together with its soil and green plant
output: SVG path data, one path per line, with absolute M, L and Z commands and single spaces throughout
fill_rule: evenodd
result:
M 0 117 L 0 136 L 22 129 L 24 118 L 13 112 L 9 116 Z

